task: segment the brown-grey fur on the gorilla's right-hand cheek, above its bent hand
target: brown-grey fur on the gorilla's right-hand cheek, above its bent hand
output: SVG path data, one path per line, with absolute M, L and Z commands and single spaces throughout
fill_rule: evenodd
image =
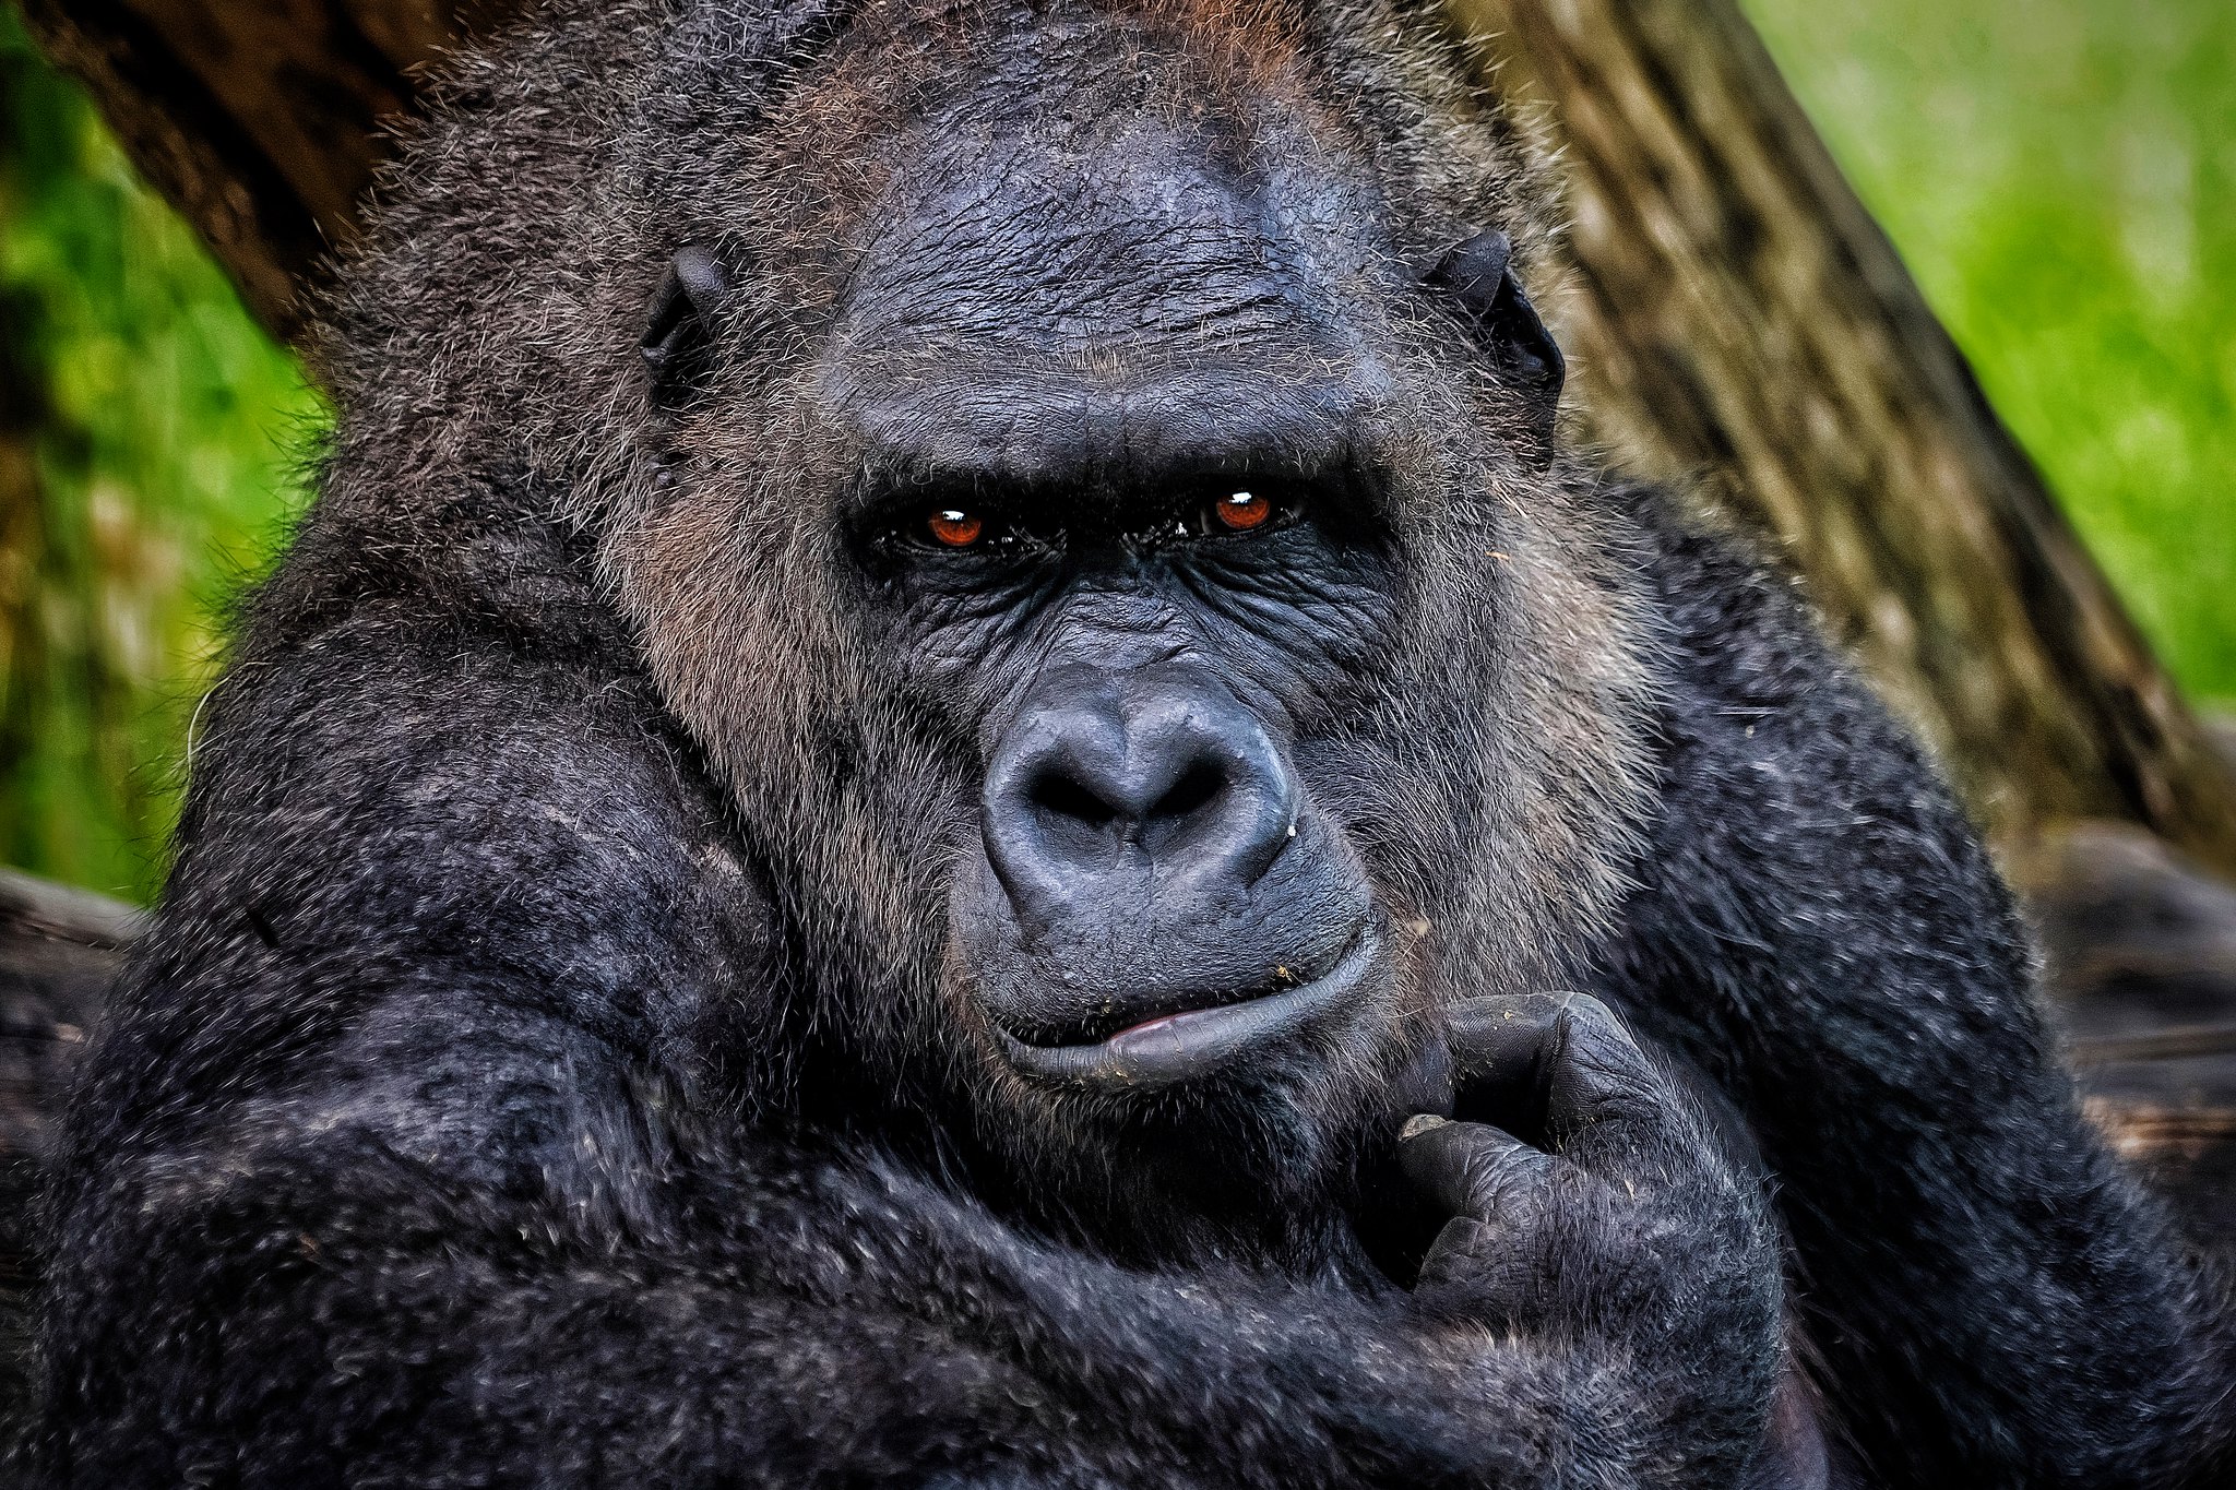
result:
M 1409 603 L 1366 730 L 1384 766 L 1346 818 L 1420 1001 L 1554 987 L 1628 889 L 1650 630 L 1590 474 L 1465 447 L 1413 467 Z

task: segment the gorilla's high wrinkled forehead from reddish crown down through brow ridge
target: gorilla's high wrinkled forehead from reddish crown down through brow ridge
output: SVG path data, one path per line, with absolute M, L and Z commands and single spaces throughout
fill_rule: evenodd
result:
M 888 141 L 834 306 L 839 404 L 966 382 L 982 427 L 1031 407 L 1149 431 L 1158 404 L 1342 424 L 1377 402 L 1398 255 L 1368 172 L 1277 56 L 1216 69 L 1174 51 L 1192 36 L 1107 16 L 973 49 Z

